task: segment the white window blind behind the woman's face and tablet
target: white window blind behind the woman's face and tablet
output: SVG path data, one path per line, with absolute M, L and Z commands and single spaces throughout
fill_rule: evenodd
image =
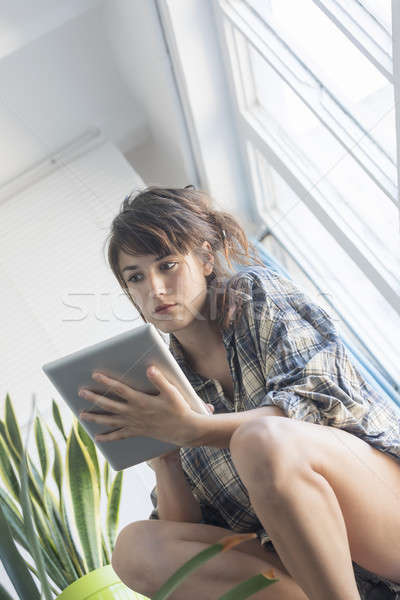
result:
M 124 196 L 143 182 L 104 142 L 5 201 L 0 196 L 0 393 L 22 419 L 56 391 L 41 365 L 139 324 L 102 249 Z M 58 399 L 58 398 L 57 398 Z

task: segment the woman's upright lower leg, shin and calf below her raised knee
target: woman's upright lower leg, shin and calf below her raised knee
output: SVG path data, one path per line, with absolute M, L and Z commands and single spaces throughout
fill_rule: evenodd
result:
M 242 479 L 280 559 L 309 598 L 360 600 L 346 525 L 328 481 L 309 467 L 291 473 L 290 486 L 279 492 L 263 489 L 262 478 Z

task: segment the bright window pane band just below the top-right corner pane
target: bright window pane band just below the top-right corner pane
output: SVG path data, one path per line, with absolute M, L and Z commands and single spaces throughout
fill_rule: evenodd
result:
M 271 0 L 270 5 L 271 24 L 276 22 L 296 54 L 395 162 L 392 84 L 312 0 Z

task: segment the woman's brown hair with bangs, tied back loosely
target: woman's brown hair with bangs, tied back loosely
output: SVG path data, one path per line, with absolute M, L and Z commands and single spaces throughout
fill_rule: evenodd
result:
M 132 192 L 124 199 L 119 214 L 111 224 L 108 262 L 145 322 L 120 273 L 119 251 L 132 255 L 159 256 L 176 252 L 187 254 L 193 250 L 206 262 L 209 260 L 209 251 L 201 248 L 204 240 L 209 242 L 214 255 L 213 272 L 206 277 L 210 292 L 208 310 L 209 314 L 215 310 L 217 326 L 224 329 L 233 314 L 237 317 L 240 315 L 242 300 L 248 298 L 239 289 L 237 280 L 240 273 L 233 274 L 231 259 L 242 265 L 257 263 L 265 266 L 239 223 L 228 212 L 215 210 L 207 192 L 196 190 L 191 185 L 185 188 L 149 186 L 142 191 Z M 249 255 L 249 249 L 252 256 Z M 228 264 L 229 269 L 224 263 Z M 222 288 L 219 287 L 221 284 Z

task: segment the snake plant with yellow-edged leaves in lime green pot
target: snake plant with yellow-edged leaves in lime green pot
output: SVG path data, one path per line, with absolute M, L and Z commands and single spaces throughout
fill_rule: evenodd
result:
M 8 394 L 4 421 L 0 419 L 0 475 L 5 484 L 5 488 L 0 486 L 0 560 L 19 598 L 149 600 L 127 588 L 110 565 L 123 471 L 112 477 L 109 463 L 105 461 L 101 474 L 96 447 L 84 428 L 75 419 L 67 436 L 54 400 L 52 409 L 54 423 L 65 445 L 65 461 L 51 429 L 39 416 L 33 417 L 35 408 L 25 446 Z M 28 454 L 32 424 L 39 465 Z M 52 453 L 45 431 L 51 439 Z M 49 484 L 50 470 L 57 493 Z M 64 497 L 65 474 L 72 515 Z M 107 500 L 105 532 L 100 522 L 102 492 Z M 219 552 L 253 537 L 255 533 L 228 535 L 199 552 L 165 582 L 153 600 L 165 600 L 194 569 Z M 23 558 L 17 546 L 30 560 Z M 274 578 L 271 569 L 240 583 L 219 600 L 244 600 L 276 581 L 279 580 Z M 0 600 L 13 600 L 1 584 Z

